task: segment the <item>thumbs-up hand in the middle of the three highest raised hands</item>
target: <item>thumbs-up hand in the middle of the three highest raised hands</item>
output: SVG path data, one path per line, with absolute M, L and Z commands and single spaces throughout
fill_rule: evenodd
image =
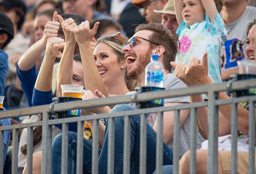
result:
M 69 18 L 69 19 L 66 19 L 64 20 L 61 15 L 58 15 L 58 18 L 61 22 L 61 27 L 62 27 L 62 30 L 65 34 L 65 41 L 66 42 L 71 42 L 71 43 L 75 43 L 76 40 L 74 38 L 74 29 L 76 29 L 76 23 L 74 22 L 74 19 L 72 18 Z

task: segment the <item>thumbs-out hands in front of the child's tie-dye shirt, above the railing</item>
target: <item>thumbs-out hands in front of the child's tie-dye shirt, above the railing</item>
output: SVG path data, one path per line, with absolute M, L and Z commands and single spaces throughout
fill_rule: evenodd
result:
M 171 66 L 175 68 L 173 72 L 187 86 L 211 84 L 211 79 L 208 76 L 208 56 L 204 53 L 202 63 L 197 58 L 192 58 L 188 65 L 184 63 L 171 62 Z

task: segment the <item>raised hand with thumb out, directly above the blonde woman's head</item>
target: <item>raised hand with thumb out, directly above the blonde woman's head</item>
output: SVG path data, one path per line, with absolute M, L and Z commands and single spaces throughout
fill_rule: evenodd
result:
M 93 26 L 93 29 L 90 29 L 88 20 L 82 22 L 79 26 L 76 26 L 74 29 L 74 36 L 78 44 L 90 43 L 93 39 L 93 36 L 96 34 L 99 26 L 99 22 L 96 22 Z

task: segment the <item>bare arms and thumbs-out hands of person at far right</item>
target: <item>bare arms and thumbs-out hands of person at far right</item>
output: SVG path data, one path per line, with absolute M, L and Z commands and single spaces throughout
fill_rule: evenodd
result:
M 202 63 L 198 58 L 192 58 L 188 65 L 175 62 L 171 62 L 171 65 L 175 68 L 174 74 L 180 78 L 187 86 L 194 85 L 209 85 L 212 83 L 208 76 L 208 57 L 207 53 L 203 56 Z M 191 102 L 202 101 L 199 95 L 190 97 Z M 230 99 L 225 92 L 219 92 L 219 99 Z M 249 130 L 249 111 L 244 107 L 237 105 L 237 121 L 238 130 L 243 134 L 248 135 Z M 201 126 L 202 135 L 208 136 L 208 108 L 201 108 L 197 112 L 199 125 Z M 231 105 L 220 105 L 219 106 L 219 135 L 228 135 L 231 132 Z M 200 129 L 199 126 L 199 129 Z M 204 137 L 207 138 L 207 137 Z

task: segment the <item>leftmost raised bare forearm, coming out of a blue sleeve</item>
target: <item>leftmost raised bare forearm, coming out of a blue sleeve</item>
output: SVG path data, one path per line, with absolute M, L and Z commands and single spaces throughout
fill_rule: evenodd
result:
M 43 50 L 45 49 L 46 43 L 43 39 L 40 39 L 21 56 L 18 61 L 18 66 L 22 71 L 30 70 L 38 60 L 38 57 L 42 55 Z

